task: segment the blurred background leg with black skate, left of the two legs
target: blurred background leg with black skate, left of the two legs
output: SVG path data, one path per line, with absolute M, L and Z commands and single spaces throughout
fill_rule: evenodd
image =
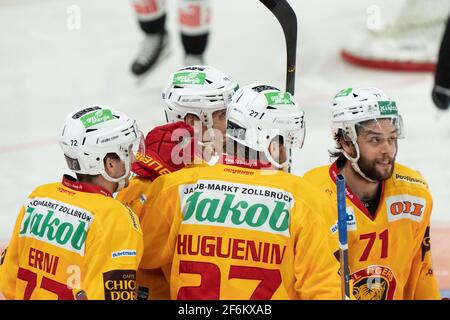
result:
M 168 34 L 165 0 L 133 0 L 139 26 L 144 32 L 140 50 L 131 65 L 131 72 L 140 76 L 168 55 Z

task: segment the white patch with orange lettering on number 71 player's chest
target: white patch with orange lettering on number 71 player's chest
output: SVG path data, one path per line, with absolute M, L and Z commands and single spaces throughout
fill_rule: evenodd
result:
M 409 219 L 421 222 L 427 202 L 424 198 L 401 194 L 386 198 L 388 221 Z

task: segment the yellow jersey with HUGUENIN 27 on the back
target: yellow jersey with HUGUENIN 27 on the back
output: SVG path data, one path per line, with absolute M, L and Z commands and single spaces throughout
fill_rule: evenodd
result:
M 222 164 L 161 176 L 140 268 L 172 265 L 172 299 L 340 299 L 321 218 L 332 207 L 317 193 L 285 172 Z

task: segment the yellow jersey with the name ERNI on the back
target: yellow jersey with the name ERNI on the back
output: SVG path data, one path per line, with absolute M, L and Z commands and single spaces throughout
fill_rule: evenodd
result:
M 21 208 L 0 292 L 7 299 L 132 300 L 142 248 L 129 208 L 105 189 L 64 176 L 35 189 Z

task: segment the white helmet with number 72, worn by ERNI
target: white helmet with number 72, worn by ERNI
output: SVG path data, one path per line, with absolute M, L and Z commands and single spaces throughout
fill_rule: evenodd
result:
M 64 123 L 59 144 L 67 165 L 75 173 L 101 174 L 111 182 L 125 184 L 133 155 L 143 152 L 142 132 L 136 121 L 126 114 L 104 107 L 87 107 L 71 112 Z M 125 163 L 125 174 L 113 178 L 105 170 L 103 160 L 115 153 Z

